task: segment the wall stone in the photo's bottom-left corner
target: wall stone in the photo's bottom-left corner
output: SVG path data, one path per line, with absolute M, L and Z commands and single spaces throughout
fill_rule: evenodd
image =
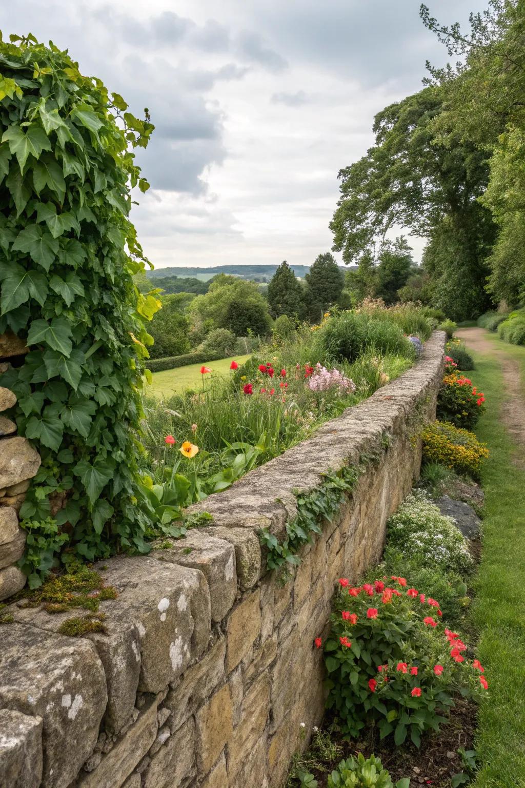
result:
M 0 708 L 0 786 L 39 788 L 42 718 Z

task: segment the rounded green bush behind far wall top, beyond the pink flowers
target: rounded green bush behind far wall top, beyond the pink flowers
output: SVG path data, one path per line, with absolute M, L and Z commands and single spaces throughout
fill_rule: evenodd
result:
M 364 312 L 342 312 L 329 318 L 319 331 L 327 355 L 336 361 L 355 361 L 364 351 L 374 348 L 379 354 L 391 353 L 414 359 L 416 351 L 395 322 L 377 319 Z

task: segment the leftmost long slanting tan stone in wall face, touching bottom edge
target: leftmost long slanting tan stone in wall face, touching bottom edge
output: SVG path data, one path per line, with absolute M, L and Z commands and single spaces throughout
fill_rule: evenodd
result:
M 135 724 L 120 736 L 94 771 L 79 775 L 75 788 L 116 788 L 122 785 L 155 741 L 158 703 L 159 697 L 150 697 Z

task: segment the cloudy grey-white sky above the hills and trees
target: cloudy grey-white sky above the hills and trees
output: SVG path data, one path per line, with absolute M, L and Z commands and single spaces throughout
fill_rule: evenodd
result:
M 427 0 L 467 20 L 480 0 Z M 420 0 L 15 0 L 0 29 L 69 48 L 80 70 L 150 110 L 132 219 L 157 268 L 310 265 L 331 247 L 338 170 L 372 118 L 446 50 Z M 420 257 L 423 240 L 412 239 Z

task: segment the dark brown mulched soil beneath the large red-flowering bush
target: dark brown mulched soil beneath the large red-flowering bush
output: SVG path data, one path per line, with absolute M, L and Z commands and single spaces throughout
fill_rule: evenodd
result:
M 379 736 L 370 730 L 368 736 L 359 741 L 344 741 L 332 732 L 335 742 L 342 746 L 342 756 L 348 757 L 363 753 L 368 757 L 372 753 L 381 758 L 383 768 L 390 772 L 392 781 L 397 782 L 403 777 L 410 777 L 411 786 L 428 785 L 433 788 L 450 788 L 450 778 L 464 771 L 461 756 L 457 749 L 474 749 L 476 706 L 473 701 L 458 698 L 456 707 L 450 714 L 449 723 L 442 727 L 439 734 L 429 734 L 421 739 L 420 749 L 412 743 L 403 747 L 395 747 L 388 739 L 379 741 Z M 326 719 L 324 727 L 330 726 Z M 339 758 L 338 760 L 341 760 Z M 337 763 L 337 761 L 336 761 Z M 310 768 L 316 776 L 319 788 L 327 786 L 327 775 L 335 764 L 327 763 L 323 771 Z

